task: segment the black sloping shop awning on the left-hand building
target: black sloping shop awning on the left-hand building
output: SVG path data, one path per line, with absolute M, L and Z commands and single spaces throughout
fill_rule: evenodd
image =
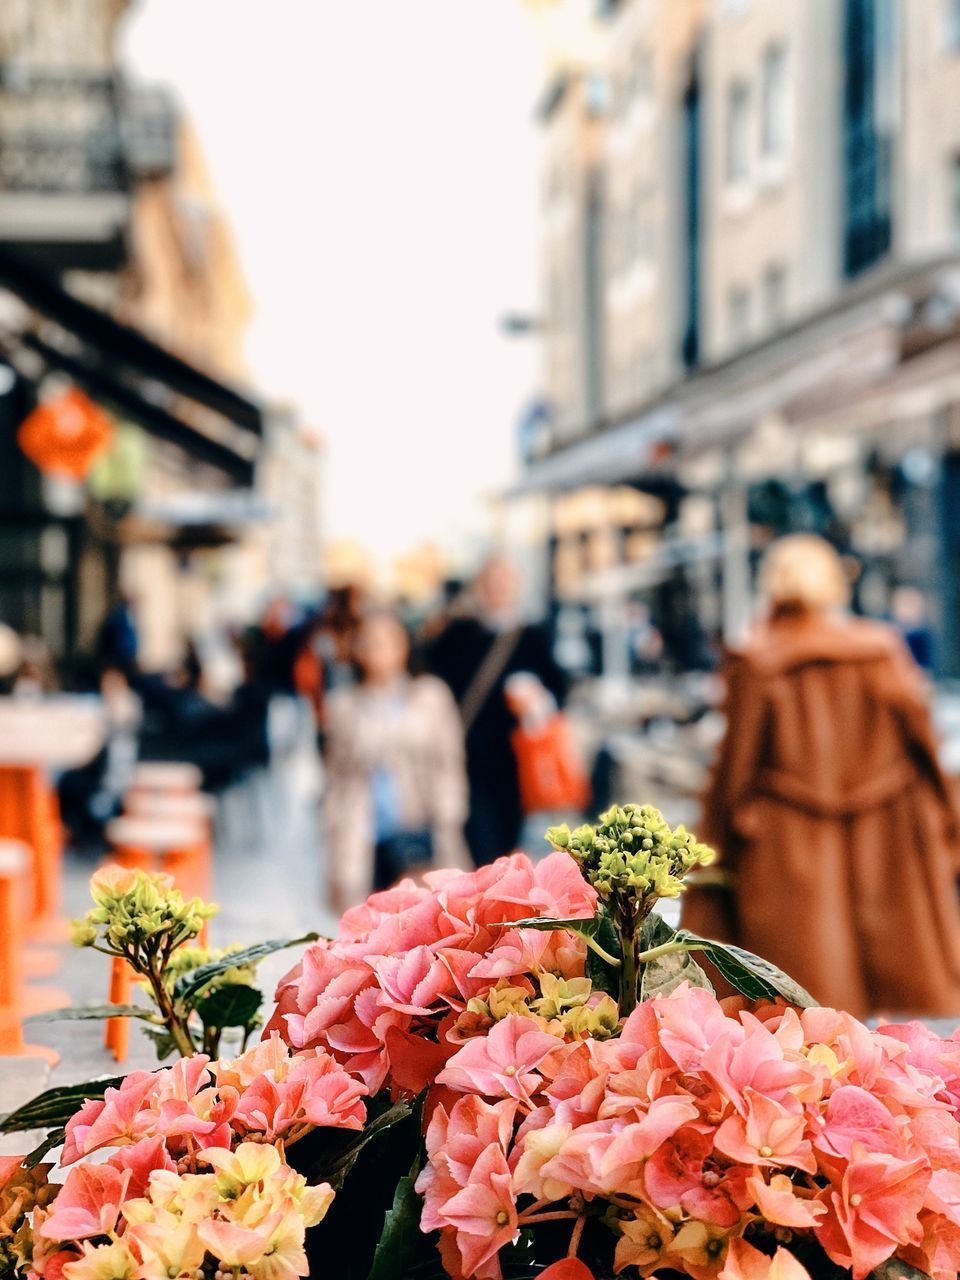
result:
M 172 355 L 131 325 L 68 293 L 52 276 L 0 246 L 0 287 L 55 332 L 19 339 L 44 364 L 191 457 L 248 485 L 264 411 L 248 397 Z

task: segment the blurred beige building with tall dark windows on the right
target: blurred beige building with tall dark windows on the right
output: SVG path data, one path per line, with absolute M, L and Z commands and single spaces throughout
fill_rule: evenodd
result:
M 571 525 L 557 498 L 556 594 L 608 630 L 644 602 L 708 660 L 765 543 L 812 529 L 865 612 L 919 589 L 960 675 L 960 6 L 603 0 L 594 24 L 540 111 L 525 488 L 653 504 L 598 566 L 595 504 Z

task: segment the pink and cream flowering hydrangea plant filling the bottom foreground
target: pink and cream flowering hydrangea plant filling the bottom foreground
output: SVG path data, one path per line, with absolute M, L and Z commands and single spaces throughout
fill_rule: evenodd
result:
M 712 854 L 657 810 L 549 838 L 347 911 L 233 1062 L 61 1098 L 67 1180 L 13 1197 L 0 1271 L 954 1277 L 960 1037 L 872 1032 L 671 929 Z

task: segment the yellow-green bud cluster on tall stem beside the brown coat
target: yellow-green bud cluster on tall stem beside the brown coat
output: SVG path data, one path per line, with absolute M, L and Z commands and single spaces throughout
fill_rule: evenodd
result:
M 644 910 L 657 899 L 678 897 L 686 873 L 716 856 L 686 827 L 671 827 L 653 805 L 614 806 L 596 826 L 550 827 L 547 838 L 576 859 L 602 899 L 639 899 Z

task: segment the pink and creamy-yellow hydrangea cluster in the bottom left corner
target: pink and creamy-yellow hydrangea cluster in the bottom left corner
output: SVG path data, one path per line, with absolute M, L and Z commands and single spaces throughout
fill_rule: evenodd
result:
M 19 1183 L 0 1184 L 0 1206 L 17 1194 L 17 1219 L 0 1242 L 44 1280 L 307 1275 L 306 1230 L 334 1193 L 285 1152 L 316 1128 L 362 1129 L 366 1092 L 329 1055 L 292 1056 L 275 1036 L 233 1061 L 133 1071 L 67 1124 L 61 1187 L 12 1162 Z

